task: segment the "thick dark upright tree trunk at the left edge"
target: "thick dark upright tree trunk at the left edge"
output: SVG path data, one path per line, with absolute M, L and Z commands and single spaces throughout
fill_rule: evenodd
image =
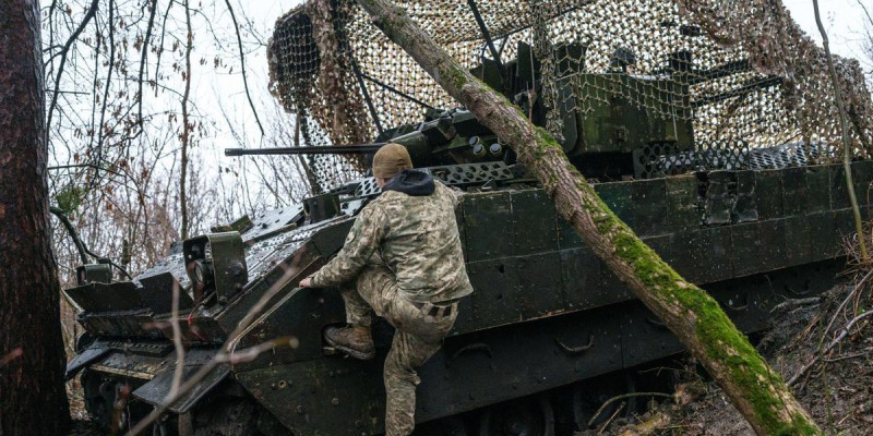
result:
M 51 253 L 39 2 L 0 1 L 0 434 L 69 422 Z

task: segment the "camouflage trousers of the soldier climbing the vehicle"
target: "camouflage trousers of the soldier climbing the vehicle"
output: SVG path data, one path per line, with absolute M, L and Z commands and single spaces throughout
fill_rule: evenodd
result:
M 394 272 L 382 264 L 364 266 L 355 288 L 342 290 L 348 323 L 369 327 L 375 312 L 396 329 L 383 374 L 385 435 L 409 435 L 415 428 L 416 386 L 421 383 L 416 370 L 442 346 L 457 317 L 457 303 L 406 301 L 397 292 Z

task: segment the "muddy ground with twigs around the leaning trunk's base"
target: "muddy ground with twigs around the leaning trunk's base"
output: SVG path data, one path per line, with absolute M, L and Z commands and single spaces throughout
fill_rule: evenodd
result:
M 758 351 L 786 380 L 820 355 L 822 330 L 832 324 L 824 347 L 841 332 L 852 318 L 871 305 L 870 294 L 848 299 L 850 286 L 838 286 L 818 298 L 789 301 L 774 311 L 773 329 L 761 340 Z M 835 316 L 836 314 L 836 316 Z M 870 319 L 873 319 L 871 316 Z M 798 378 L 792 390 L 828 435 L 873 435 L 873 326 L 869 320 L 856 323 L 845 338 L 811 371 Z M 682 386 L 683 396 L 695 399 L 684 407 L 670 401 L 638 416 L 629 424 L 617 420 L 606 429 L 588 435 L 754 435 L 752 428 L 731 405 L 725 393 L 702 377 Z M 694 392 L 694 393 L 689 393 Z M 687 397 L 685 397 L 687 398 Z M 659 413 L 660 412 L 660 413 Z M 661 417 L 655 422 L 654 417 Z M 666 419 L 663 419 L 667 416 Z M 636 420 L 633 420 L 636 421 Z M 648 425 L 644 428 L 639 422 Z

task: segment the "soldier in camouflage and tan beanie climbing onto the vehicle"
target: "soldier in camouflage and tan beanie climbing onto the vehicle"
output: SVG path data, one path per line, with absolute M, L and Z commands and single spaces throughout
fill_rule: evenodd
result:
M 373 157 L 382 195 L 358 215 L 343 250 L 301 287 L 339 287 L 347 327 L 328 327 L 327 343 L 373 359 L 371 313 L 396 329 L 385 358 L 385 435 L 415 428 L 416 373 L 441 346 L 457 317 L 457 301 L 473 292 L 455 220 L 458 198 L 412 169 L 406 148 L 386 144 Z

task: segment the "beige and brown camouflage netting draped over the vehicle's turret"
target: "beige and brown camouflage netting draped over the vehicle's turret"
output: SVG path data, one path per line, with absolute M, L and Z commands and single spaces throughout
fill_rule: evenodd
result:
M 462 65 L 474 69 L 491 58 L 470 2 L 399 4 Z M 501 62 L 516 59 L 518 43 L 533 47 L 542 74 L 538 97 L 547 108 L 585 114 L 619 94 L 665 119 L 691 121 L 698 149 L 796 143 L 809 159 L 841 156 L 824 50 L 778 0 L 477 0 L 475 5 Z M 427 108 L 457 106 L 352 1 L 310 0 L 289 12 L 276 23 L 270 52 L 271 88 L 301 120 L 302 145 L 369 142 L 378 126 L 419 122 Z M 671 81 L 629 83 L 617 74 L 584 74 L 614 72 L 617 59 L 633 76 L 679 77 L 686 88 Z M 862 71 L 856 60 L 834 57 L 834 62 L 853 157 L 869 157 L 873 106 Z M 558 84 L 575 92 L 561 93 Z M 557 110 L 548 112 L 551 132 L 560 133 L 560 123 Z M 345 172 L 323 173 L 338 161 L 346 162 Z M 313 165 L 321 165 L 315 172 L 322 180 L 359 168 L 349 158 Z

